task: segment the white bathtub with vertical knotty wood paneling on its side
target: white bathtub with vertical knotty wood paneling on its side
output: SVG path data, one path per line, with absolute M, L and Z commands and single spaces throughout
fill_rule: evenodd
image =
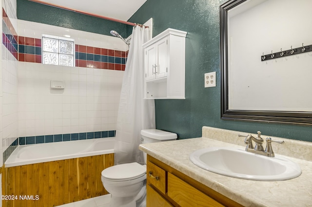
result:
M 108 194 L 101 171 L 114 165 L 114 143 L 110 137 L 18 146 L 2 169 L 2 193 L 39 199 L 2 206 L 55 207 Z

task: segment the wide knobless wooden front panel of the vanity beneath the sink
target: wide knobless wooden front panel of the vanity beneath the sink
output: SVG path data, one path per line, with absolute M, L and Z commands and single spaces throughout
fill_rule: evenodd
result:
M 170 172 L 168 172 L 168 196 L 181 207 L 224 207 Z

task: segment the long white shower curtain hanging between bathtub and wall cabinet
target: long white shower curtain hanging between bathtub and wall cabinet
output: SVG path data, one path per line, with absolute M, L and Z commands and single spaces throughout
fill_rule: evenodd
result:
M 142 44 L 150 39 L 150 29 L 135 26 L 123 76 L 115 141 L 115 164 L 138 162 L 142 129 L 155 129 L 154 100 L 144 97 L 144 51 Z

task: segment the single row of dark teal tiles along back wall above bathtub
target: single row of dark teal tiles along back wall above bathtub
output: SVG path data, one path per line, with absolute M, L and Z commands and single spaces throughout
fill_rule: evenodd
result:
M 105 137 L 115 137 L 116 131 L 101 131 L 101 132 L 82 132 L 82 133 L 67 133 L 67 134 L 50 134 L 40 136 L 24 136 L 19 137 L 14 142 L 15 145 L 33 145 L 40 143 L 51 142 L 66 142 L 82 139 L 97 139 Z

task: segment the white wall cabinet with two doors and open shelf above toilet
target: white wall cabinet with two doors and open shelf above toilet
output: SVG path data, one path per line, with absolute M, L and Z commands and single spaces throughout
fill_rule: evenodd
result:
M 185 99 L 186 34 L 169 28 L 143 44 L 144 98 Z

